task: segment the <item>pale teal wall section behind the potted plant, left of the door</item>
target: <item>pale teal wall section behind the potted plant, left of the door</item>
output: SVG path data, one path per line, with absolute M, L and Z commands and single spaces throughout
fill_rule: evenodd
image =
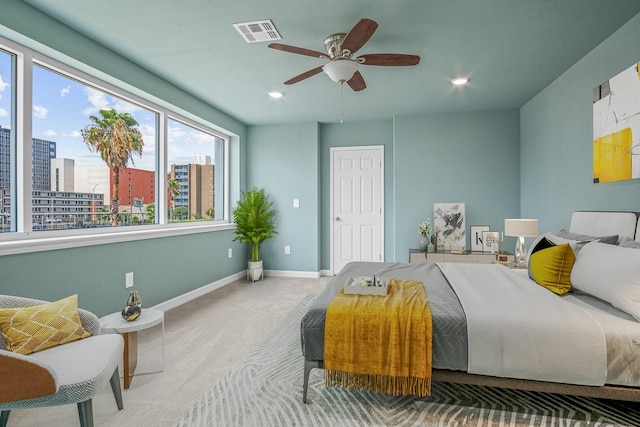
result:
M 249 126 L 247 188 L 264 187 L 278 235 L 261 246 L 266 270 L 320 270 L 318 124 Z M 299 199 L 300 207 L 293 207 Z M 284 254 L 284 247 L 291 254 Z

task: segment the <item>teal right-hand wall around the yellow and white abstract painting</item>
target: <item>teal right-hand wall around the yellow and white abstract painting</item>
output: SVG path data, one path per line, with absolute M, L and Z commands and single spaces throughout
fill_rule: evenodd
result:
M 640 15 L 522 107 L 521 211 L 540 231 L 567 228 L 575 210 L 640 211 L 640 180 L 594 184 L 592 154 L 593 88 L 638 60 Z

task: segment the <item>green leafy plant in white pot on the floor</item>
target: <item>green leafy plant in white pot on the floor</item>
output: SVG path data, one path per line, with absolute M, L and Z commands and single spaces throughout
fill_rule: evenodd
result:
M 236 224 L 236 237 L 233 241 L 249 243 L 251 246 L 247 275 L 252 282 L 262 278 L 263 274 L 260 245 L 278 234 L 273 223 L 275 215 L 273 203 L 269 201 L 264 188 L 255 187 L 242 192 L 232 211 L 233 222 Z

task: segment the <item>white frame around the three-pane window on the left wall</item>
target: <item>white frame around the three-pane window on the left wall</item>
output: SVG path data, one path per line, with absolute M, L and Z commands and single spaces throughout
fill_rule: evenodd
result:
M 17 221 L 17 226 L 6 233 L 0 233 L 0 256 L 46 251 L 51 249 L 74 248 L 80 246 L 91 246 L 105 243 L 126 242 L 150 238 L 179 236 L 202 232 L 233 229 L 230 223 L 230 142 L 231 135 L 225 134 L 213 123 L 201 117 L 169 104 L 167 101 L 159 100 L 155 96 L 141 92 L 133 88 L 142 95 L 132 93 L 126 83 L 118 82 L 118 85 L 109 83 L 99 77 L 81 71 L 70 65 L 62 63 L 46 55 L 32 51 L 31 49 L 11 42 L 0 37 L 0 49 L 15 55 L 15 78 L 12 83 L 13 101 L 12 111 L 12 139 L 16 141 L 15 155 L 15 197 L 12 197 L 12 217 Z M 32 182 L 31 182 L 31 140 L 32 136 L 32 90 L 33 90 L 33 67 L 40 66 L 51 72 L 59 73 L 67 78 L 76 80 L 82 84 L 103 91 L 111 96 L 121 98 L 127 102 L 137 104 L 149 111 L 157 114 L 157 138 L 155 159 L 155 215 L 156 224 L 128 225 L 118 227 L 105 227 L 100 229 L 69 229 L 69 230 L 48 230 L 46 232 L 32 229 Z M 95 71 L 95 70 L 94 70 Z M 95 71 L 95 74 L 100 74 Z M 163 104 L 163 105 L 161 105 Z M 224 140 L 224 213 L 223 219 L 212 221 L 197 221 L 187 223 L 170 223 L 168 221 L 167 209 L 167 180 L 160 177 L 167 176 L 170 165 L 167 163 L 167 131 L 169 120 L 179 121 L 192 126 L 202 132 L 214 135 Z M 15 136 L 13 136 L 15 135 Z M 20 143 L 29 141 L 29 143 Z M 158 206 L 163 206 L 159 209 Z M 14 210 L 15 209 L 15 210 Z

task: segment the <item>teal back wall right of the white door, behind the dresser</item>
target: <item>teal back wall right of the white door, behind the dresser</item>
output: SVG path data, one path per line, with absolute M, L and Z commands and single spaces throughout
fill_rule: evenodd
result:
M 422 221 L 433 225 L 434 203 L 465 203 L 467 232 L 519 217 L 518 110 L 398 116 L 394 125 L 396 261 L 417 248 Z

